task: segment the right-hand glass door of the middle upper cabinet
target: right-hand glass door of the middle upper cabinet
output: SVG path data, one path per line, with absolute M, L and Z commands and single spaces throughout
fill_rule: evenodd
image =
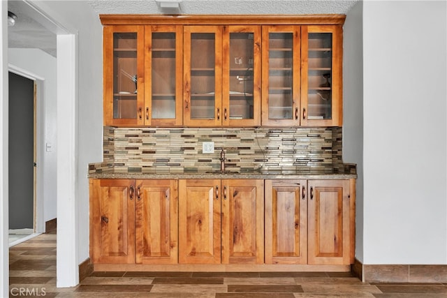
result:
M 259 126 L 261 27 L 224 27 L 222 47 L 222 124 Z

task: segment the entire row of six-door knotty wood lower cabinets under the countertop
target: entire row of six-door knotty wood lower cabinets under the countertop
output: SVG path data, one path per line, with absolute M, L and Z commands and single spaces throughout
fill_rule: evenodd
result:
M 101 265 L 350 265 L 355 179 L 90 179 Z

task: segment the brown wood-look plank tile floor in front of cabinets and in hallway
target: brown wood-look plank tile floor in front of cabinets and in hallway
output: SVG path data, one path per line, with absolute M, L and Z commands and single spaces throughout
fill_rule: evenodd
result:
M 10 248 L 10 297 L 447 297 L 447 283 L 362 283 L 335 272 L 94 272 L 56 288 L 56 234 Z

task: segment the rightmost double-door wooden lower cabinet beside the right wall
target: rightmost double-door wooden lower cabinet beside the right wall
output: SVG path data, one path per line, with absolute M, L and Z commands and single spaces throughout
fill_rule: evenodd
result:
M 266 180 L 265 263 L 351 264 L 353 199 L 349 180 Z

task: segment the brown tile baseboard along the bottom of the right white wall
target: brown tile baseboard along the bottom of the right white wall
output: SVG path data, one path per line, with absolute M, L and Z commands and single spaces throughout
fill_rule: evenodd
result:
M 447 283 L 447 265 L 364 265 L 356 260 L 351 271 L 367 283 Z

